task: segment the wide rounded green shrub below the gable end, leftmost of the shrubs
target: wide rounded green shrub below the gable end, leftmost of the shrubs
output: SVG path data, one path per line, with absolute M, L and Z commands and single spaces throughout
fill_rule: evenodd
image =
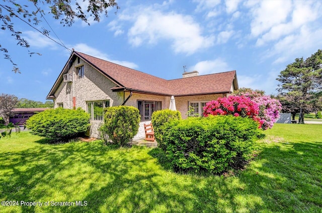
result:
M 87 131 L 89 121 L 90 115 L 81 108 L 57 108 L 35 114 L 27 120 L 26 126 L 35 135 L 65 141 Z

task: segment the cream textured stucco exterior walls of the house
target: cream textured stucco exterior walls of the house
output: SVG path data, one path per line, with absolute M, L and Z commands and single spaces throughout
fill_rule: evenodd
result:
M 79 78 L 76 73 L 76 68 L 82 65 L 84 65 L 84 77 Z M 73 81 L 61 82 L 54 94 L 56 97 L 54 99 L 54 108 L 58 107 L 58 103 L 63 103 L 64 108 L 72 109 L 74 97 L 75 107 L 81 107 L 88 112 L 87 101 L 110 100 L 110 106 L 117 106 L 121 105 L 124 99 L 130 95 L 130 92 L 112 92 L 111 88 L 117 85 L 82 59 L 80 59 L 79 63 L 76 59 L 68 70 L 68 73 L 72 74 Z M 209 101 L 222 96 L 223 94 L 177 96 L 175 97 L 176 107 L 177 110 L 180 111 L 182 118 L 186 119 L 186 114 L 189 110 L 189 101 Z M 162 101 L 162 109 L 169 109 L 170 98 L 171 96 L 133 92 L 125 105 L 137 108 L 137 100 L 151 100 Z M 139 131 L 133 138 L 134 140 L 145 137 L 143 124 L 150 122 L 151 121 L 140 122 Z M 103 121 L 91 121 L 90 123 L 91 128 L 89 130 L 89 135 L 91 137 L 99 138 L 98 128 L 103 124 Z

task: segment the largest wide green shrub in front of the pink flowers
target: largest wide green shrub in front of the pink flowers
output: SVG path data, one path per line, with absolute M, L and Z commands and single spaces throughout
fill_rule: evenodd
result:
M 166 155 L 176 170 L 212 173 L 249 160 L 262 136 L 256 122 L 233 116 L 169 122 L 162 134 Z

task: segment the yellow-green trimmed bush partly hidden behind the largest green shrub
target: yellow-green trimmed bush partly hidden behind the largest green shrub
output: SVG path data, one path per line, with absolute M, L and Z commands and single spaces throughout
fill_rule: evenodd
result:
M 158 142 L 159 148 L 165 150 L 165 147 L 162 145 L 162 133 L 160 128 L 167 122 L 170 121 L 179 121 L 181 120 L 181 113 L 179 111 L 172 111 L 172 110 L 159 110 L 155 111 L 152 114 L 151 117 L 151 122 L 153 125 L 153 130 L 154 130 L 154 137 L 156 141 Z

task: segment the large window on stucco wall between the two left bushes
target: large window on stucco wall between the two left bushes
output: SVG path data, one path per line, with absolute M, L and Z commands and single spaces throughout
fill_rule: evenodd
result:
M 103 121 L 104 109 L 110 107 L 110 100 L 89 101 L 87 102 L 87 112 L 91 120 Z

